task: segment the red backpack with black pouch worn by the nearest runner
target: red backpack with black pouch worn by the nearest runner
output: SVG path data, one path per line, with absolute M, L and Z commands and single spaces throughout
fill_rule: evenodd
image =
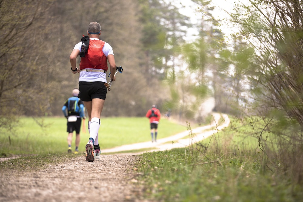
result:
M 89 40 L 88 36 L 83 36 L 81 38 L 81 52 L 80 57 L 87 56 L 89 64 L 93 66 L 100 65 L 102 61 L 103 51 L 102 48 L 105 44 L 102 40 Z

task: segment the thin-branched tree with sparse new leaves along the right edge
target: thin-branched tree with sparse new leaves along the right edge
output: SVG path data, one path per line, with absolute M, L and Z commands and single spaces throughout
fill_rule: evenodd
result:
M 302 5 L 290 1 L 250 1 L 246 15 L 234 15 L 241 34 L 255 48 L 253 69 L 245 69 L 265 106 L 283 110 L 303 127 Z M 260 90 L 262 88 L 262 90 Z

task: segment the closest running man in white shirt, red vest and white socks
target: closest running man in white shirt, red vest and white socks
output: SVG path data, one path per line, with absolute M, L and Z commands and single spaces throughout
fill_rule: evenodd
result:
M 72 73 L 80 73 L 78 98 L 81 98 L 88 112 L 88 131 L 90 134 L 89 141 L 85 146 L 86 161 L 95 161 L 100 158 L 100 146 L 98 142 L 98 131 L 100 128 L 100 117 L 104 106 L 107 88 L 106 71 L 108 70 L 107 62 L 110 65 L 110 78 L 116 80 L 116 62 L 112 47 L 99 39 L 101 35 L 101 26 L 98 22 L 91 22 L 88 25 L 87 35 L 89 37 L 89 48 L 81 57 L 79 68 L 76 67 L 76 59 L 81 51 L 83 42 L 75 45 L 70 55 L 70 63 L 72 65 Z M 93 52 L 95 54 L 91 54 Z M 102 53 L 96 60 L 95 55 Z M 83 56 L 80 55 L 80 56 Z M 90 59 L 89 59 L 90 58 Z M 98 63 L 96 64 L 96 61 Z

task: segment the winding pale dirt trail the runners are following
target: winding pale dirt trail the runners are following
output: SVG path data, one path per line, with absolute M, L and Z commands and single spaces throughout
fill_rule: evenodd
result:
M 215 115 L 217 121 L 211 126 L 193 129 L 192 141 L 200 141 L 217 130 L 228 126 L 229 119 L 218 126 L 220 114 Z M 211 127 L 216 126 L 216 129 Z M 209 131 L 205 131 L 211 129 Z M 156 147 L 157 151 L 188 145 L 188 131 L 171 137 L 151 142 L 125 145 L 113 149 L 102 150 L 102 153 L 127 151 L 140 148 Z M 165 144 L 174 141 L 173 144 Z M 148 149 L 147 149 L 148 150 Z M 87 162 L 85 157 L 75 157 L 67 161 L 49 165 L 44 170 L 32 172 L 2 172 L 0 170 L 0 201 L 24 202 L 146 202 L 138 198 L 140 189 L 133 183 L 135 162 L 138 156 L 133 154 L 102 155 L 100 161 Z

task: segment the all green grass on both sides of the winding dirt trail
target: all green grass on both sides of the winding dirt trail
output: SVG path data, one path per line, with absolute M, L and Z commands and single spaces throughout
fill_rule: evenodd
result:
M 0 170 L 38 168 L 43 165 L 35 164 L 35 158 L 43 158 L 45 163 L 57 163 L 73 156 L 64 155 L 67 149 L 66 120 L 43 120 L 40 127 L 33 119 L 22 118 L 22 125 L 16 127 L 13 133 L 1 131 L 2 156 L 37 156 L 20 159 L 30 162 L 24 167 L 19 164 L 12 166 L 10 161 L 3 162 Z M 146 118 L 105 118 L 101 123 L 100 142 L 103 148 L 150 141 Z M 264 134 L 264 142 L 267 144 L 266 147 L 261 147 L 258 135 L 264 128 L 263 124 L 252 120 L 240 122 L 231 119 L 228 128 L 187 149 L 141 154 L 134 172 L 138 186 L 143 187 L 144 199 L 161 202 L 303 201 L 302 181 L 296 180 L 296 176 L 302 172 L 301 162 L 292 164 L 288 159 L 273 158 L 270 147 L 276 148 L 277 142 L 272 133 Z M 185 126 L 163 119 L 159 125 L 159 136 L 167 137 L 185 130 Z M 88 133 L 82 134 L 82 151 L 87 139 Z M 31 161 L 27 161 L 27 158 Z M 296 168 L 297 173 L 291 172 L 292 167 Z

